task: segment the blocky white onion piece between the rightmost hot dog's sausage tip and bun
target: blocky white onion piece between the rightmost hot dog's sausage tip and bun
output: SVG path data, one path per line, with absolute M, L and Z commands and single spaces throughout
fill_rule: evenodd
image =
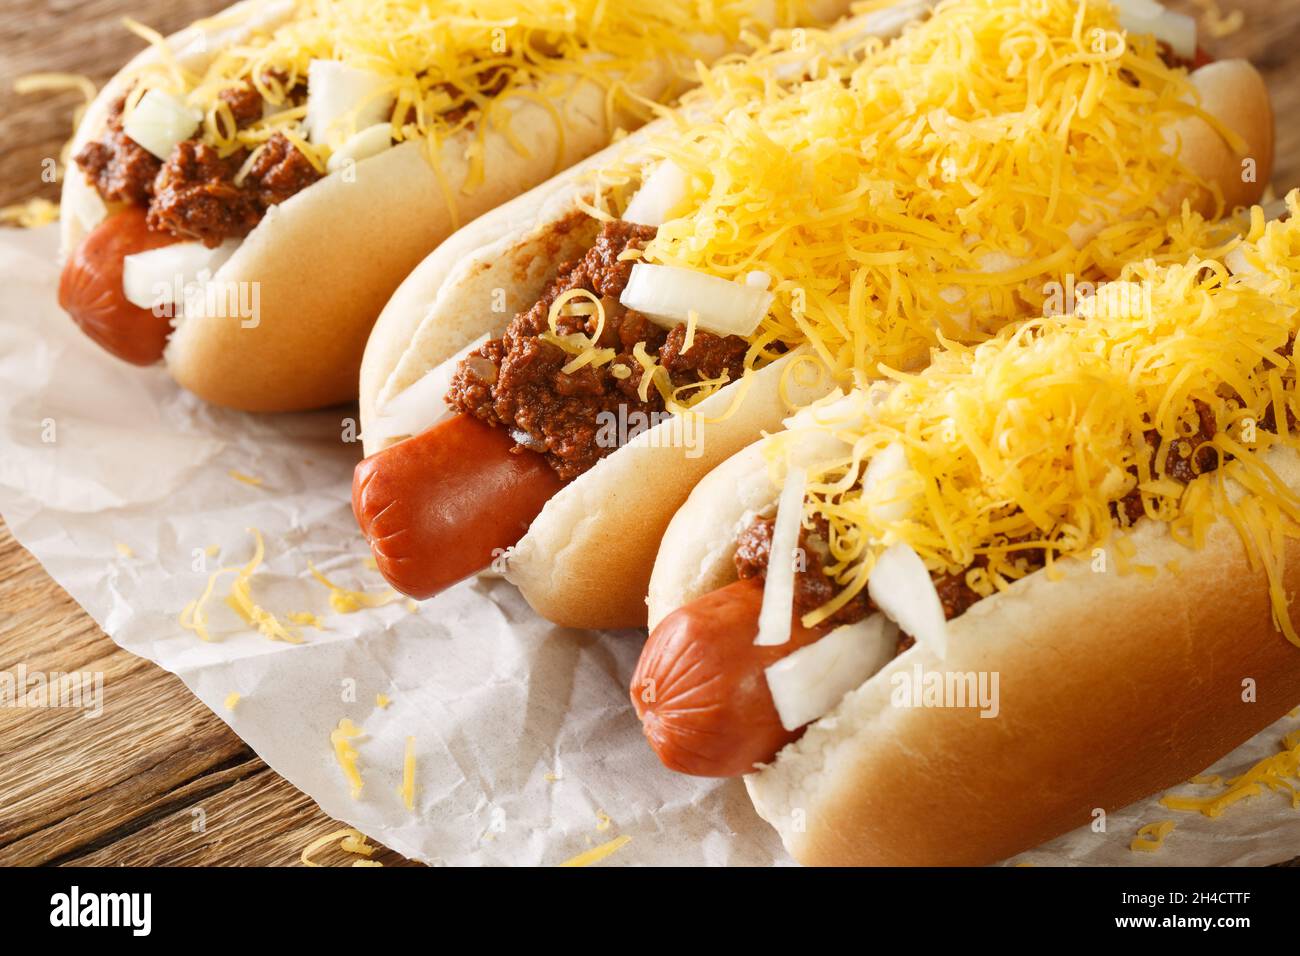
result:
M 766 669 L 781 726 L 794 731 L 826 717 L 844 695 L 889 663 L 897 646 L 898 626 L 884 614 L 872 614 Z

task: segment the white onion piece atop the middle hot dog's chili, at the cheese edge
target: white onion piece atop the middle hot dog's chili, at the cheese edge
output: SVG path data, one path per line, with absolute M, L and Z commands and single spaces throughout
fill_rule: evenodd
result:
M 740 282 L 676 265 L 637 263 L 619 297 L 660 325 L 672 328 L 697 313 L 697 328 L 719 336 L 751 336 L 763 321 L 774 295 Z

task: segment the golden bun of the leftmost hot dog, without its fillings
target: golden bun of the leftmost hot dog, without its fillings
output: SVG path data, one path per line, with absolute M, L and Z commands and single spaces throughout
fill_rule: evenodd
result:
M 844 0 L 820 0 L 816 12 L 832 18 Z M 273 29 L 289 18 L 283 0 L 237 4 L 211 21 L 183 30 L 168 43 L 182 66 L 202 70 L 214 51 Z M 719 49 L 719 52 L 722 52 Z M 159 60 L 146 49 L 104 87 L 82 120 L 74 150 L 104 127 L 110 104 L 130 86 L 135 69 Z M 630 83 L 630 92 L 659 99 L 673 82 L 668 62 Z M 291 411 L 356 397 L 360 356 L 382 304 L 402 278 L 468 222 L 556 169 L 604 146 L 615 129 L 637 117 L 616 111 L 610 122 L 607 91 L 573 78 L 547 99 L 563 121 L 528 96 L 507 96 L 510 131 L 484 137 L 484 181 L 464 191 L 471 164 L 467 147 L 477 134 L 462 131 L 442 146 L 445 189 L 422 142 L 399 144 L 363 160 L 355 181 L 329 176 L 282 203 L 248 234 L 213 276 L 224 289 L 256 284 L 256 324 L 194 310 L 172 336 L 165 360 L 172 375 L 199 397 L 246 411 Z M 511 142 L 526 143 L 521 155 Z M 456 211 L 446 196 L 455 196 Z M 64 255 L 105 215 L 104 203 L 79 170 L 64 183 Z

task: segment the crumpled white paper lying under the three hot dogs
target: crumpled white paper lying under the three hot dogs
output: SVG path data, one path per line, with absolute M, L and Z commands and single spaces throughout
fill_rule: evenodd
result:
M 224 411 L 159 368 L 108 358 L 55 302 L 56 246 L 53 228 L 0 232 L 0 514 L 117 644 L 176 672 L 328 814 L 425 862 L 558 864 L 618 836 L 632 840 L 608 864 L 789 862 L 740 782 L 668 773 L 645 745 L 627 692 L 642 633 L 551 627 L 495 580 L 415 611 L 396 601 L 333 613 L 308 561 L 341 585 L 384 588 L 350 509 L 360 445 L 342 436 L 354 412 Z M 212 571 L 250 559 L 250 528 L 266 541 L 254 600 L 324 618 L 324 630 L 300 628 L 303 644 L 244 627 L 221 601 L 230 575 L 208 602 L 212 643 L 178 624 Z M 230 693 L 240 695 L 233 711 Z M 364 732 L 352 741 L 358 800 L 329 743 L 342 718 Z M 1296 727 L 1282 721 L 1221 767 L 1239 773 Z M 398 795 L 408 736 L 413 812 Z M 1139 826 L 1170 818 L 1178 830 L 1162 851 L 1130 852 Z M 1144 801 L 1112 813 L 1105 834 L 1083 829 L 1018 860 L 1297 855 L 1300 812 L 1265 793 L 1218 821 Z

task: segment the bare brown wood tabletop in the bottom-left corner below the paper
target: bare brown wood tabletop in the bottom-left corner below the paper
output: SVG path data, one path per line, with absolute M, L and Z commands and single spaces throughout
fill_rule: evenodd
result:
M 113 644 L 0 523 L 0 671 L 18 665 L 103 674 L 103 713 L 0 708 L 0 865 L 287 865 L 343 826 Z

